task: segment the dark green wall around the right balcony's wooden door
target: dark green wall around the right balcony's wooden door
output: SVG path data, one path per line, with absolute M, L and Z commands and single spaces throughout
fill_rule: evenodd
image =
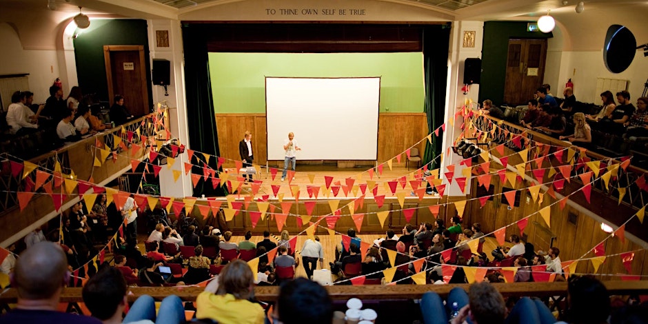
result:
M 527 32 L 527 21 L 486 21 L 482 46 L 479 101 L 491 99 L 496 105 L 504 101 L 506 59 L 509 39 L 545 39 L 551 32 Z

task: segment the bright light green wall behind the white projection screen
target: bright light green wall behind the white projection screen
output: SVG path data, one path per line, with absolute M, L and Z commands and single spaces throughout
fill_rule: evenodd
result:
M 381 77 L 381 112 L 423 112 L 423 54 L 209 53 L 216 113 L 265 113 L 265 77 Z

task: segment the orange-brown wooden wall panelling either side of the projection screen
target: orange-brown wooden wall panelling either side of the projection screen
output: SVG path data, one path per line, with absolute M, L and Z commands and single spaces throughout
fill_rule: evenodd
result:
M 216 114 L 216 129 L 218 130 L 219 148 L 225 159 L 238 160 L 239 141 L 243 139 L 245 130 L 252 132 L 252 152 L 254 163 L 265 165 L 267 161 L 267 128 L 265 114 Z M 421 139 L 416 145 L 419 154 L 423 156 L 427 136 L 427 117 L 424 112 L 416 113 L 383 113 L 378 115 L 378 161 L 387 161 L 397 154 L 403 153 L 401 163 L 394 159 L 394 166 L 405 166 L 407 155 L 405 150 Z M 306 161 L 304 161 L 306 162 Z M 271 161 L 276 165 L 276 161 Z M 319 162 L 317 162 L 319 163 Z M 282 163 L 280 163 L 282 164 Z M 363 165 L 367 162 L 363 162 Z M 372 164 L 372 163 L 369 163 Z M 283 164 L 282 164 L 283 165 Z M 225 163 L 226 168 L 234 166 L 233 161 Z M 345 165 L 352 168 L 354 165 Z

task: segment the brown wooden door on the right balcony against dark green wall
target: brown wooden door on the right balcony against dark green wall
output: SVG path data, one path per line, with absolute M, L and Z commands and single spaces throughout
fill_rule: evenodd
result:
M 525 105 L 543 85 L 547 39 L 510 39 L 504 102 Z

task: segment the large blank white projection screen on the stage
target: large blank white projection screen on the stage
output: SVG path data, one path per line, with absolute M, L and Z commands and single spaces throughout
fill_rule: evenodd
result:
M 297 160 L 376 160 L 380 90 L 380 77 L 266 77 L 267 159 L 294 132 Z

